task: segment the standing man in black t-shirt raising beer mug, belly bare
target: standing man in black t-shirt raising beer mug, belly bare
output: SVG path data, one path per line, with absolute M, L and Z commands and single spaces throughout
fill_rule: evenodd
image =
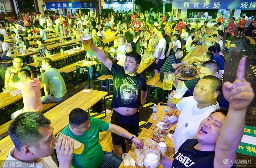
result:
M 113 75 L 113 100 L 111 108 L 113 114 L 110 123 L 116 124 L 133 134 L 130 139 L 125 139 L 125 149 L 128 152 L 131 148 L 129 144 L 139 132 L 139 113 L 138 110 L 143 107 L 147 98 L 147 82 L 143 75 L 137 73 L 141 62 L 141 56 L 138 53 L 127 53 L 124 67 L 113 63 L 106 54 L 101 51 L 91 39 L 91 49 L 101 63 L 103 63 Z M 113 143 L 113 152 L 121 157 L 124 153 L 121 147 L 122 136 L 111 134 Z

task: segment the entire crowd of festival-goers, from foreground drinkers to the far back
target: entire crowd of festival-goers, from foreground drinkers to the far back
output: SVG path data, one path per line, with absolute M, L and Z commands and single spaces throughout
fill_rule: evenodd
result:
M 194 18 L 198 15 L 201 13 L 195 13 Z M 193 18 L 190 14 L 188 16 Z M 204 18 L 203 14 L 201 18 Z M 145 147 L 137 136 L 139 110 L 147 99 L 148 86 L 145 76 L 137 70 L 145 61 L 143 55 L 152 54 L 153 74 L 159 75 L 160 81 L 164 81 L 166 72 L 174 75 L 173 89 L 166 97 L 167 105 L 180 111 L 176 115 L 178 125 L 173 135 L 175 155 L 170 157 L 157 150 L 159 163 L 166 168 L 235 167 L 236 164 L 226 164 L 223 160 L 236 160 L 236 150 L 244 133 L 246 109 L 254 98 L 251 84 L 244 78 L 245 58 L 240 60 L 234 82 L 223 83 L 221 80 L 225 75 L 223 52 L 230 52 L 233 36 L 239 38 L 243 35 L 246 14 L 241 16 L 238 25 L 234 23 L 235 19 L 232 17 L 224 30 L 223 14 L 212 28 L 207 27 L 207 18 L 201 26 L 196 21 L 185 24 L 182 19 L 171 22 L 170 12 L 153 10 L 104 12 L 101 18 L 80 10 L 75 14 L 68 12 L 67 16 L 58 11 L 54 16 L 36 12 L 21 13 L 17 18 L 6 16 L 0 20 L 1 62 L 11 60 L 11 66 L 6 68 L 4 87 L 20 90 L 24 104 L 11 115 L 8 133 L 14 146 L 6 161 L 33 161 L 36 167 L 42 168 L 119 167 L 123 153 L 131 149 L 132 143 L 138 149 Z M 255 35 L 255 24 L 256 17 L 245 31 L 246 36 Z M 238 34 L 235 34 L 236 29 Z M 86 58 L 101 64 L 101 69 L 94 65 L 88 68 L 90 79 L 113 75 L 110 123 L 90 117 L 86 111 L 74 106 L 68 115 L 69 124 L 61 131 L 64 136 L 57 139 L 53 135 L 51 121 L 41 114 L 43 104 L 65 101 L 68 90 L 49 57 L 47 33 L 56 33 L 61 42 L 72 38 L 80 40 L 82 46 L 90 44 Z M 87 34 L 90 34 L 89 41 L 83 39 Z M 110 43 L 104 43 L 108 39 Z M 13 45 L 10 45 L 11 41 Z M 181 60 L 201 45 L 208 47 L 203 56 L 193 55 Z M 28 51 L 39 54 L 21 54 Z M 12 52 L 15 57 L 12 57 Z M 40 60 L 42 81 L 34 77 L 36 72 L 28 66 Z M 177 79 L 175 76 L 191 60 L 202 63 L 199 77 L 189 81 Z M 44 96 L 41 96 L 40 82 L 43 83 Z M 175 88 L 179 86 L 189 90 L 190 95 L 173 103 Z M 103 82 L 102 87 L 107 88 L 107 83 Z M 103 151 L 99 143 L 99 132 L 102 131 L 111 132 L 113 149 L 110 152 Z M 74 150 L 75 140 L 84 145 L 78 154 Z M 58 166 L 51 157 L 53 150 L 56 150 Z

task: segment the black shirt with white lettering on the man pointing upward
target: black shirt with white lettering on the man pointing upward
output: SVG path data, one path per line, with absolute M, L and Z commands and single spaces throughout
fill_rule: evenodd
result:
M 213 160 L 215 151 L 196 150 L 194 146 L 198 143 L 196 139 L 188 139 L 173 156 L 172 168 L 214 168 Z M 231 166 L 231 168 L 235 168 Z

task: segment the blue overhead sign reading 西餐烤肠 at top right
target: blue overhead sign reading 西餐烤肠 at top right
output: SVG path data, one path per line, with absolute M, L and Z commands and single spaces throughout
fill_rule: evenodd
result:
M 256 0 L 173 0 L 172 9 L 241 9 L 256 10 Z

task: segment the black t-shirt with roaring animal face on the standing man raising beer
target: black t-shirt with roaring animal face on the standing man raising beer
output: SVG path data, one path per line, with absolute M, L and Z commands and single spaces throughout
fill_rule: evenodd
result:
M 125 74 L 124 67 L 116 63 L 113 63 L 111 73 L 114 80 L 111 108 L 139 108 L 141 89 L 147 90 L 146 78 L 138 73 L 136 76 Z

